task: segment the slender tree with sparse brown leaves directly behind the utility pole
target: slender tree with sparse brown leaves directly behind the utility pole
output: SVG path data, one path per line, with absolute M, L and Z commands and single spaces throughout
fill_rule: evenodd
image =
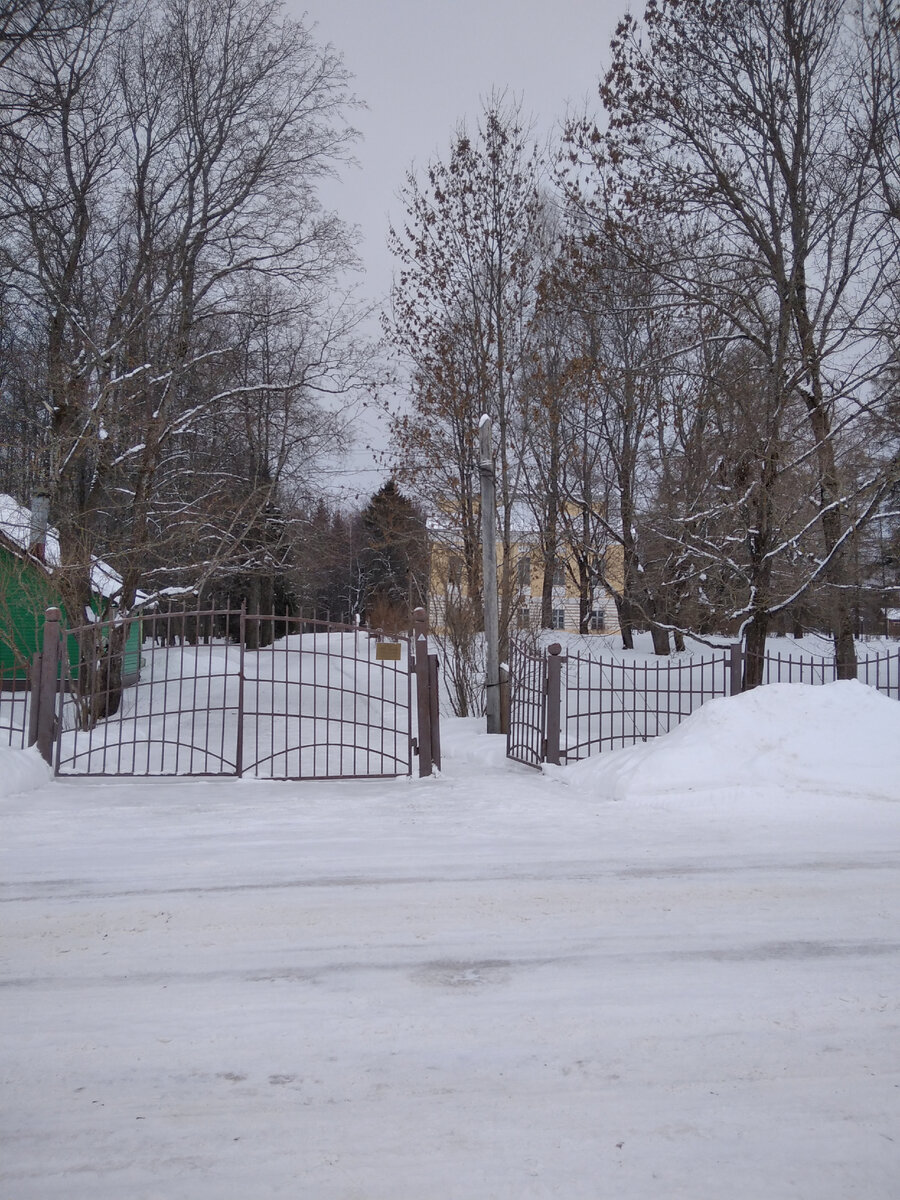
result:
M 385 320 L 410 372 L 412 409 L 396 414 L 398 478 L 422 487 L 460 524 L 470 595 L 480 593 L 479 419 L 497 431 L 502 526 L 500 626 L 515 593 L 514 505 L 520 397 L 544 238 L 540 156 L 515 104 L 494 96 L 475 134 L 456 131 L 449 158 L 402 197 L 407 223 L 390 245 L 400 272 Z

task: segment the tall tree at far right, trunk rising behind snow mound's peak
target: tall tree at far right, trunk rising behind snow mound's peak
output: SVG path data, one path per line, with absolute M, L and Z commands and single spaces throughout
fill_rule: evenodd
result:
M 613 43 L 601 89 L 608 136 L 593 151 L 588 131 L 582 139 L 616 176 L 612 203 L 626 223 L 640 210 L 707 223 L 738 300 L 725 314 L 769 353 L 779 394 L 804 406 L 821 538 L 806 586 L 829 584 L 842 677 L 856 673 L 856 653 L 838 434 L 865 408 L 868 313 L 892 257 L 874 203 L 874 139 L 850 139 L 860 91 L 847 16 L 842 0 L 650 4 L 643 32 L 625 18 Z

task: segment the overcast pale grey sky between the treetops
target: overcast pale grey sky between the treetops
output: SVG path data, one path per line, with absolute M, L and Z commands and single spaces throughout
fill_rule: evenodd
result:
M 390 287 L 388 226 L 402 211 L 396 197 L 410 167 L 444 156 L 456 125 L 474 125 L 494 89 L 521 98 L 539 140 L 568 108 L 595 112 L 610 38 L 628 7 L 628 0 L 288 0 L 290 16 L 306 13 L 317 40 L 343 53 L 367 106 L 353 118 L 359 167 L 328 185 L 323 200 L 360 228 L 368 299 Z M 382 442 L 366 424 L 361 440 Z M 358 451 L 350 469 L 358 487 L 349 484 L 348 499 L 378 486 L 371 456 Z

